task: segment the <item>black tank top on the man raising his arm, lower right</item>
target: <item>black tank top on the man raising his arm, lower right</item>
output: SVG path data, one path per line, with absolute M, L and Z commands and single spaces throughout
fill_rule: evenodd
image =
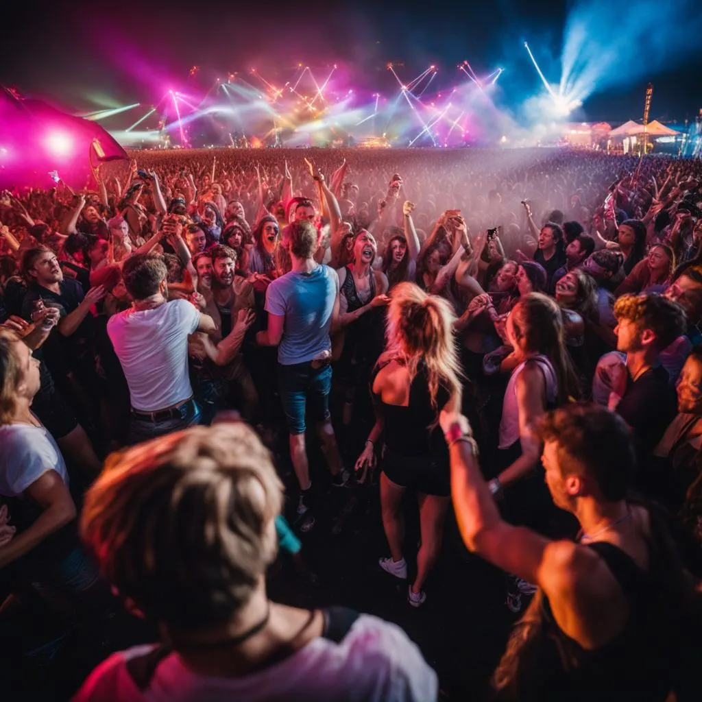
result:
M 675 629 L 681 624 L 674 623 L 680 603 L 671 601 L 670 590 L 661 585 L 666 564 L 656 557 L 651 542 L 648 571 L 611 543 L 592 543 L 588 548 L 607 563 L 628 602 L 623 630 L 602 647 L 583 649 L 562 631 L 548 598 L 539 591 L 498 668 L 496 699 L 665 700 L 677 659 Z M 518 652 L 510 656 L 512 644 Z

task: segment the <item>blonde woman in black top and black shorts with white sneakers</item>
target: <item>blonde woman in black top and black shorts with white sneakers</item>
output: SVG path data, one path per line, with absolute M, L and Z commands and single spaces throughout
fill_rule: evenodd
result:
M 419 607 L 426 599 L 422 585 L 441 550 L 451 491 L 439 411 L 449 401 L 460 403 L 461 371 L 451 305 L 407 282 L 397 284 L 390 298 L 385 352 L 371 379 L 376 425 L 356 468 L 363 480 L 375 463 L 375 446 L 382 435 L 380 501 L 392 557 L 381 558 L 380 567 L 397 578 L 407 577 L 402 497 L 407 489 L 417 491 L 422 539 L 407 599 Z

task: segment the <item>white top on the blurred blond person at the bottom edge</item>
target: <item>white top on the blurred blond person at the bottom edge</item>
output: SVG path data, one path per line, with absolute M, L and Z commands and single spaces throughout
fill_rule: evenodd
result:
M 134 647 L 107 658 L 74 702 L 430 702 L 438 693 L 436 673 L 404 631 L 366 614 L 340 643 L 318 637 L 284 661 L 245 677 L 195 675 L 171 654 L 141 691 L 126 660 L 151 648 Z

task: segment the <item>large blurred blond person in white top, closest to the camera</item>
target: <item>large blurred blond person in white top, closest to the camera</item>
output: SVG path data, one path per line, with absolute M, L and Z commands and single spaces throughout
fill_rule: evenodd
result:
M 269 451 L 241 422 L 108 461 L 81 536 L 167 643 L 110 656 L 74 702 L 435 700 L 436 673 L 396 625 L 268 599 L 282 503 Z

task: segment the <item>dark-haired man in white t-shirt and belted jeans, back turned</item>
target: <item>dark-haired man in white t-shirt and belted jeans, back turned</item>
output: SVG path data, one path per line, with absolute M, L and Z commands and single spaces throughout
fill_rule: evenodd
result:
M 132 256 L 122 275 L 133 304 L 107 322 L 107 334 L 129 386 L 128 440 L 135 444 L 197 424 L 200 410 L 188 376 L 187 337 L 195 331 L 212 333 L 215 324 L 189 300 L 168 302 L 166 264 L 160 256 Z

